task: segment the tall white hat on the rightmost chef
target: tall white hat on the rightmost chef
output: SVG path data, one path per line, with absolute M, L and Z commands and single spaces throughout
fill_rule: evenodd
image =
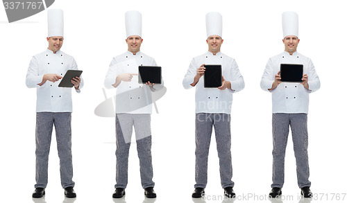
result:
M 282 13 L 283 39 L 289 35 L 299 37 L 299 17 L 296 12 L 287 11 Z

